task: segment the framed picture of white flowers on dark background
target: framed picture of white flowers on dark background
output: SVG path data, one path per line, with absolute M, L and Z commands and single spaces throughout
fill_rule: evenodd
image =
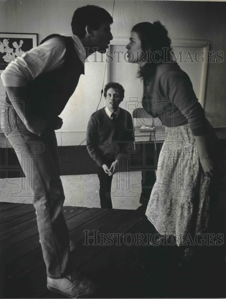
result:
M 0 33 L 0 74 L 7 65 L 37 46 L 37 33 Z

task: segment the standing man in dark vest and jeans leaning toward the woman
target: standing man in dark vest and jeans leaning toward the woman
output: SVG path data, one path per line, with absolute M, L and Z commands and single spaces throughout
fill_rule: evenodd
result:
M 23 167 L 37 214 L 37 225 L 47 269 L 48 289 L 70 298 L 87 297 L 96 285 L 68 266 L 68 228 L 62 213 L 64 191 L 60 179 L 55 129 L 58 117 L 84 74 L 85 58 L 106 52 L 112 34 L 110 14 L 101 7 L 78 8 L 73 35 L 48 36 L 36 48 L 17 57 L 1 74 L 7 92 L 1 127 Z M 18 105 L 18 100 L 22 105 Z M 6 126 L 7 124 L 7 126 Z M 23 150 L 18 150 L 18 145 Z M 33 165 L 29 175 L 23 155 Z

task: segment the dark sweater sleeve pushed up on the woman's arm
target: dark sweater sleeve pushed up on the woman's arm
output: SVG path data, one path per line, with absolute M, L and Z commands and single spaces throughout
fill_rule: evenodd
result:
M 204 110 L 195 95 L 191 80 L 185 72 L 170 71 L 162 81 L 165 94 L 187 118 L 194 135 L 206 131 Z

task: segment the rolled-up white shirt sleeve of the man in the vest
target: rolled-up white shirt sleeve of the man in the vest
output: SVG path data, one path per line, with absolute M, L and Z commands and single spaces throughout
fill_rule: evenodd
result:
M 1 73 L 4 86 L 27 86 L 38 75 L 60 68 L 66 51 L 64 41 L 59 37 L 48 39 L 42 45 L 25 52 L 12 61 Z

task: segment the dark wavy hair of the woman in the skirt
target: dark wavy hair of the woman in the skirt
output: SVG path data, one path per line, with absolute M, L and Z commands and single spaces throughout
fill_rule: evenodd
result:
M 142 22 L 132 28 L 133 32 L 138 34 L 141 41 L 141 49 L 147 53 L 147 63 L 139 68 L 138 78 L 145 83 L 150 82 L 156 69 L 156 65 L 162 62 L 172 62 L 171 39 L 168 37 L 168 31 L 159 22 Z

